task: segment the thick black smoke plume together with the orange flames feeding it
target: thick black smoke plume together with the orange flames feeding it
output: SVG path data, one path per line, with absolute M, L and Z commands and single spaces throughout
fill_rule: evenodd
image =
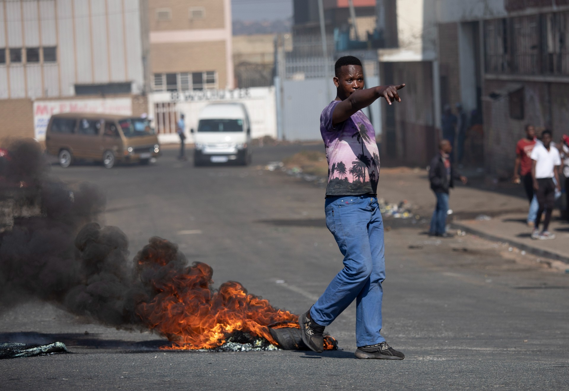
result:
M 212 289 L 211 267 L 189 265 L 168 240 L 151 238 L 131 259 L 126 235 L 97 222 L 104 207 L 96 187 L 53 178 L 38 143 L 0 150 L 3 307 L 42 298 L 105 325 L 153 330 L 173 348 L 189 349 L 220 346 L 236 331 L 277 344 L 268 326 L 298 319 L 238 282 Z

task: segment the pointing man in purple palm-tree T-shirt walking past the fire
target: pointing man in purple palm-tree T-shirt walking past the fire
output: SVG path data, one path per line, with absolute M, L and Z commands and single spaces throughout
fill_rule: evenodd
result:
M 336 61 L 335 73 L 337 95 L 320 115 L 320 133 L 328 160 L 326 226 L 344 255 L 344 268 L 299 316 L 300 331 L 307 347 L 323 351 L 324 327 L 356 300 L 356 357 L 402 360 L 405 355 L 380 334 L 385 279 L 384 224 L 376 194 L 380 157 L 376 132 L 361 110 L 378 98 L 390 105 L 401 102 L 397 91 L 405 84 L 364 89 L 361 62 L 353 56 Z

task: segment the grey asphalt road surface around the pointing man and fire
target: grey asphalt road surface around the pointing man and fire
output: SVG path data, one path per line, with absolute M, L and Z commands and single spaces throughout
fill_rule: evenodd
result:
M 102 219 L 129 236 L 132 256 L 150 236 L 162 236 L 190 261 L 212 265 L 215 285 L 240 281 L 301 313 L 342 257 L 324 225 L 324 190 L 262 170 L 299 149 L 258 148 L 249 167 L 193 168 L 171 149 L 149 167 L 52 171 L 104 189 Z M 31 301 L 0 314 L 0 340 L 60 340 L 74 354 L 2 360 L 1 388 L 567 389 L 569 275 L 502 257 L 499 244 L 471 236 L 441 242 L 422 228 L 386 226 L 393 228 L 386 232 L 382 334 L 405 360 L 354 359 L 354 306 L 327 328 L 340 351 L 209 353 L 156 351 L 156 335 Z

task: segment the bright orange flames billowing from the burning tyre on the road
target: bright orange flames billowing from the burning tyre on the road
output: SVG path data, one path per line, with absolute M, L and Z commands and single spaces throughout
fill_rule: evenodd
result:
M 175 245 L 153 238 L 150 247 L 139 253 L 141 280 L 154 290 L 149 302 L 142 302 L 136 312 L 151 329 L 173 342 L 168 350 L 195 350 L 219 347 L 234 331 L 248 332 L 278 346 L 269 325 L 298 328 L 298 315 L 276 309 L 269 301 L 253 294 L 238 282 L 229 281 L 211 289 L 213 270 L 204 263 L 176 267 L 168 261 Z M 154 244 L 154 246 L 153 246 Z M 158 246 L 156 246 L 158 245 Z M 174 247 L 171 247 L 174 246 Z M 169 255 L 169 256 L 168 256 Z M 145 273 L 145 270 L 151 270 Z M 284 326 L 281 326 L 284 325 Z M 273 326 L 271 326 L 273 327 Z M 328 349 L 333 338 L 327 338 Z

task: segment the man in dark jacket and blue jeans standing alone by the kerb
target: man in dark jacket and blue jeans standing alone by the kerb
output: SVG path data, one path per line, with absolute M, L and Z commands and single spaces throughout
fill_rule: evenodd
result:
M 439 143 L 439 153 L 431 160 L 431 167 L 428 178 L 431 182 L 431 189 L 435 192 L 436 207 L 432 214 L 431 228 L 429 235 L 442 236 L 443 238 L 452 237 L 447 234 L 447 213 L 448 213 L 448 191 L 454 187 L 454 181 L 460 180 L 464 184 L 467 178 L 462 176 L 455 169 L 450 160 L 452 145 L 448 140 Z

